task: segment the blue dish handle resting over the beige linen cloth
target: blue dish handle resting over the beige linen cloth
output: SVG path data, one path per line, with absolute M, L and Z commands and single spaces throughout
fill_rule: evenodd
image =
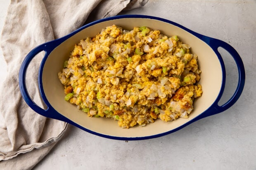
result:
M 24 61 L 21 64 L 21 68 L 19 71 L 19 88 L 21 91 L 21 95 L 23 99 L 26 101 L 29 107 L 31 107 L 35 112 L 39 113 L 40 115 L 43 115 L 45 117 L 55 118 L 56 115 L 50 114 L 52 107 L 49 107 L 45 100 L 43 100 L 47 106 L 47 109 L 44 110 L 40 106 L 38 106 L 29 96 L 28 90 L 26 88 L 26 71 L 28 68 L 29 63 L 31 60 L 40 52 L 45 51 L 44 58 L 50 54 L 50 52 L 58 45 L 57 43 L 54 43 L 55 41 L 50 41 L 45 44 L 42 44 L 40 46 L 37 46 L 34 48 L 28 55 L 25 57 Z M 42 64 L 42 63 L 41 63 Z M 39 84 L 39 83 L 38 83 Z M 39 88 L 40 89 L 40 88 Z M 40 90 L 41 93 L 41 90 Z M 43 96 L 41 94 L 41 96 Z

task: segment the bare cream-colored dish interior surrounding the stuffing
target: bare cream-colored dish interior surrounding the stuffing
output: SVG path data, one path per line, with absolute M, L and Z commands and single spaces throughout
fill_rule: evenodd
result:
M 134 26 L 147 26 L 155 30 L 160 30 L 163 34 L 168 36 L 178 35 L 185 44 L 190 44 L 192 53 L 198 55 L 199 68 L 202 71 L 199 83 L 202 85 L 203 94 L 194 102 L 194 110 L 188 119 L 179 118 L 168 123 L 158 120 L 147 126 L 135 126 L 130 129 L 122 129 L 113 119 L 88 117 L 83 111 L 78 110 L 76 106 L 64 100 L 64 87 L 60 83 L 57 74 L 62 70 L 63 62 L 68 59 L 74 44 L 78 43 L 80 39 L 95 36 L 102 28 L 113 24 L 121 26 L 126 30 L 131 30 Z M 57 48 L 50 53 L 45 62 L 42 78 L 46 98 L 52 107 L 60 114 L 90 131 L 108 136 L 130 138 L 152 136 L 171 131 L 203 113 L 211 106 L 220 92 L 222 70 L 218 57 L 213 50 L 204 41 L 201 41 L 193 34 L 163 21 L 148 18 L 121 18 L 97 23 L 85 28 L 57 46 Z

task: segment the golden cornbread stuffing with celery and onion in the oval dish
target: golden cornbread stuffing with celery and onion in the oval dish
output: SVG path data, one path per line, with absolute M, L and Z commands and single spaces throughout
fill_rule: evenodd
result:
M 65 100 L 123 128 L 187 118 L 201 96 L 197 55 L 159 30 L 112 25 L 76 44 L 59 80 Z

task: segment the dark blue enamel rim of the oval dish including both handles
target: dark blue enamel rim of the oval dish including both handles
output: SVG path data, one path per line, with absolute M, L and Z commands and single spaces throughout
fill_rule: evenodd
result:
M 152 136 L 142 136 L 142 137 L 119 137 L 119 136 L 109 136 L 109 135 L 105 135 L 105 134 L 101 134 L 101 133 L 97 133 L 95 131 L 91 131 L 89 129 L 86 129 L 78 124 L 76 124 L 75 122 L 71 121 L 70 119 L 64 117 L 63 115 L 61 115 L 60 113 L 57 112 L 57 110 L 55 110 L 49 103 L 49 101 L 47 100 L 45 93 L 43 91 L 43 80 L 42 80 L 42 75 L 43 75 L 43 67 L 45 64 L 45 61 L 47 60 L 48 55 L 57 47 L 59 46 L 59 44 L 61 44 L 63 41 L 65 41 L 66 39 L 69 39 L 70 37 L 72 37 L 74 34 L 80 32 L 81 30 L 90 27 L 92 25 L 95 25 L 97 23 L 101 23 L 104 21 L 109 21 L 109 20 L 115 20 L 115 19 L 120 19 L 120 18 L 148 18 L 148 19 L 154 19 L 154 20 L 159 20 L 159 21 L 163 21 L 166 23 L 170 23 L 172 25 L 175 25 L 187 32 L 190 32 L 191 34 L 193 34 L 194 36 L 198 37 L 199 39 L 201 39 L 202 41 L 204 41 L 206 44 L 208 44 L 213 51 L 216 53 L 218 60 L 220 61 L 220 65 L 222 68 L 222 76 L 223 76 L 223 80 L 222 80 L 222 85 L 220 88 L 220 92 L 216 98 L 216 100 L 212 103 L 211 106 L 209 106 L 208 109 L 206 109 L 203 113 L 201 113 L 200 115 L 198 115 L 197 117 L 195 117 L 194 119 L 190 120 L 189 122 L 177 127 L 176 129 L 173 129 L 171 131 L 167 131 L 164 133 L 159 133 L 159 134 L 155 134 Z M 235 63 L 237 65 L 237 70 L 238 70 L 238 83 L 237 83 L 237 88 L 234 92 L 234 94 L 231 96 L 231 98 L 224 103 L 222 106 L 218 106 L 218 102 L 221 99 L 221 96 L 224 92 L 224 88 L 225 88 L 225 79 L 226 79 L 226 73 L 225 73 L 225 64 L 223 62 L 223 59 L 220 55 L 220 53 L 218 52 L 218 48 L 222 47 L 224 48 L 226 51 L 228 51 L 230 53 L 230 55 L 234 58 Z M 31 99 L 31 97 L 28 94 L 28 91 L 26 89 L 26 70 L 27 67 L 29 65 L 29 63 L 31 62 L 31 60 L 33 59 L 33 57 L 35 57 L 38 53 L 40 53 L 41 51 L 45 51 L 45 56 L 40 64 L 40 69 L 39 69 L 39 76 L 38 76 L 38 85 L 39 85 L 39 89 L 40 89 L 40 94 L 43 98 L 43 101 L 45 102 L 47 109 L 44 110 L 43 108 L 40 108 L 39 106 L 36 105 L 36 103 L 34 103 Z M 151 138 L 158 138 L 161 136 L 165 136 L 167 134 L 173 133 L 175 131 L 178 131 L 182 128 L 184 128 L 185 126 L 199 120 L 202 119 L 204 117 L 208 117 L 211 115 L 215 115 L 217 113 L 221 113 L 225 110 L 227 110 L 228 108 L 230 108 L 240 97 L 240 95 L 242 94 L 243 88 L 244 88 L 244 83 L 245 83 L 245 70 L 244 70 L 244 64 L 242 62 L 241 57 L 239 56 L 239 54 L 237 53 L 237 51 L 230 46 L 229 44 L 225 43 L 224 41 L 221 41 L 219 39 L 214 39 L 211 37 L 207 37 L 204 36 L 202 34 L 199 34 L 197 32 L 194 32 L 188 28 L 185 28 L 184 26 L 175 23 L 173 21 L 169 21 L 166 20 L 164 18 L 159 18 L 159 17 L 155 17 L 155 16 L 146 16 L 146 15 L 121 15 L 121 16 L 113 16 L 113 17 L 109 17 L 109 18 L 104 18 L 104 19 L 100 19 L 98 21 L 94 21 L 92 23 L 89 23 L 87 25 L 84 25 L 83 27 L 79 28 L 78 30 L 60 38 L 60 39 L 56 39 L 50 42 L 47 42 L 45 44 L 42 44 L 40 46 L 37 46 L 36 48 L 34 48 L 30 53 L 28 53 L 28 55 L 25 57 L 23 63 L 21 64 L 21 68 L 20 68 L 20 72 L 19 72 L 19 87 L 21 90 L 21 95 L 23 96 L 24 100 L 26 101 L 26 103 L 28 104 L 28 106 L 30 106 L 34 111 L 36 111 L 37 113 L 39 113 L 40 115 L 43 115 L 45 117 L 50 117 L 53 119 L 58 119 L 64 122 L 67 122 L 69 124 L 72 124 L 80 129 L 83 129 L 84 131 L 87 131 L 89 133 L 95 134 L 97 136 L 102 136 L 104 138 L 110 138 L 110 139 L 115 139 L 115 140 L 145 140 L 145 139 L 151 139 Z

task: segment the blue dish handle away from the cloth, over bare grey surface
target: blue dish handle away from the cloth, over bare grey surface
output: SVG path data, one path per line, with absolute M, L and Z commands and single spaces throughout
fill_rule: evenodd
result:
M 244 64 L 242 62 L 241 57 L 235 50 L 235 48 L 233 48 L 228 43 L 221 41 L 219 39 L 214 39 L 211 37 L 204 37 L 203 39 L 207 44 L 209 44 L 209 46 L 211 46 L 211 48 L 213 49 L 213 51 L 216 53 L 216 55 L 218 56 L 218 58 L 220 60 L 221 67 L 223 69 L 223 83 L 220 88 L 220 93 L 219 93 L 218 97 L 216 98 L 214 103 L 204 112 L 205 114 L 202 114 L 199 119 L 207 117 L 207 116 L 215 115 L 217 113 L 221 113 L 221 112 L 227 110 L 228 108 L 230 108 L 232 105 L 234 105 L 235 102 L 239 99 L 240 95 L 242 94 L 242 91 L 244 89 L 244 83 L 245 83 Z M 225 75 L 225 64 L 223 62 L 223 59 L 222 59 L 220 53 L 218 52 L 219 47 L 224 48 L 226 51 L 228 51 L 228 53 L 230 53 L 230 55 L 235 60 L 235 63 L 237 65 L 237 71 L 238 71 L 238 83 L 237 83 L 236 90 L 235 90 L 234 94 L 231 96 L 231 98 L 221 106 L 218 105 L 218 102 L 220 101 L 220 99 L 223 95 L 223 92 L 224 92 L 226 75 Z

